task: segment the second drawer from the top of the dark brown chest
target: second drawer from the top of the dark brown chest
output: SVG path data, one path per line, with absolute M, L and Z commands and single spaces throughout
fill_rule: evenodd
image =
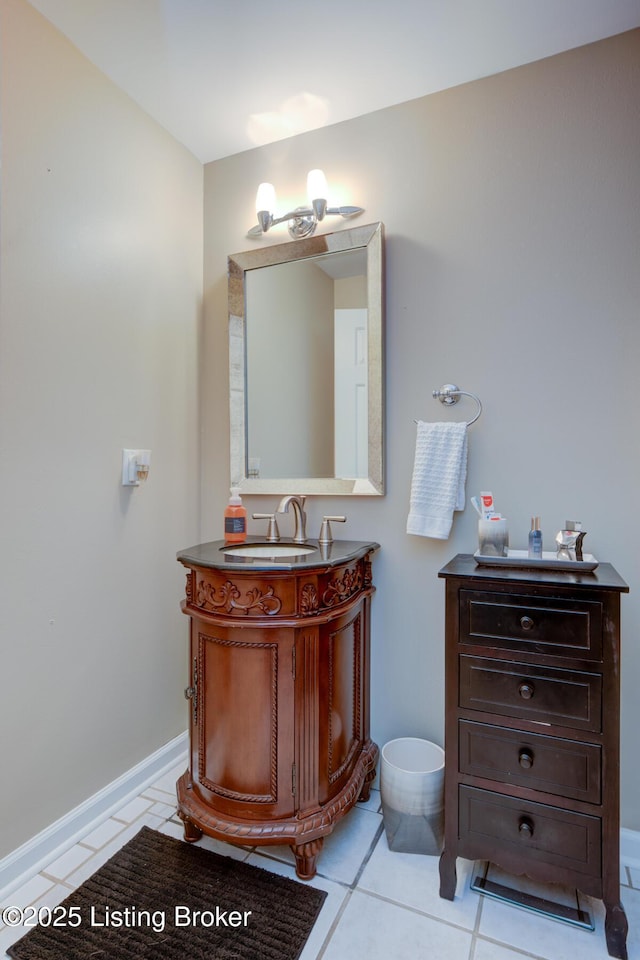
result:
M 463 655 L 460 706 L 599 732 L 602 676 Z

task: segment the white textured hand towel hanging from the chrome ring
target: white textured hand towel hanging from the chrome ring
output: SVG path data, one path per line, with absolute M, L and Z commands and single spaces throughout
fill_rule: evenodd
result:
M 467 424 L 418 421 L 407 533 L 446 540 L 464 510 Z

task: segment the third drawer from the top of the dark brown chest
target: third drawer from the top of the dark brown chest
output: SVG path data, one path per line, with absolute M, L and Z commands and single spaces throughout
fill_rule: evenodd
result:
M 522 733 L 461 720 L 460 773 L 600 803 L 601 748 L 593 743 Z

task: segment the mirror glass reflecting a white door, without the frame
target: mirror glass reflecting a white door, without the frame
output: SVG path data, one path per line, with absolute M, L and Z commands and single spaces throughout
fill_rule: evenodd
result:
M 250 476 L 368 476 L 366 279 L 360 250 L 247 272 Z

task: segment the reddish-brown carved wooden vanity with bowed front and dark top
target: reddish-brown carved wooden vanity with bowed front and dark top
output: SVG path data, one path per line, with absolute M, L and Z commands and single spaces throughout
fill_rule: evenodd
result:
M 288 844 L 302 879 L 336 822 L 368 799 L 378 756 L 369 623 L 379 545 L 307 546 L 277 560 L 223 541 L 178 554 L 190 618 L 190 764 L 177 784 L 185 838 Z

